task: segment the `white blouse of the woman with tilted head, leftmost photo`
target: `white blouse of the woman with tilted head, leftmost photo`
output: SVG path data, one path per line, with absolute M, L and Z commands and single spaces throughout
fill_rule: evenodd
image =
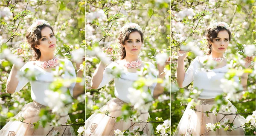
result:
M 67 69 L 64 73 L 62 78 L 64 79 L 76 79 L 76 71 L 73 67 L 73 64 L 68 59 L 59 59 L 59 61 L 64 61 L 64 67 Z M 21 72 L 24 72 L 26 68 L 37 73 L 35 76 L 35 80 L 28 80 L 27 78 L 19 78 L 18 85 L 16 87 L 15 92 L 19 92 L 28 82 L 31 84 L 31 97 L 32 100 L 47 106 L 47 103 L 44 102 L 44 98 L 46 95 L 44 94 L 45 90 L 49 90 L 49 85 L 54 81 L 53 73 L 46 72 L 43 68 L 39 67 L 38 65 L 34 65 L 32 61 L 27 62 L 21 69 Z M 70 72 L 70 73 L 69 73 Z M 71 96 L 73 97 L 73 88 L 75 87 L 76 82 L 72 83 L 68 88 L 70 91 Z M 61 90 L 63 92 L 67 91 L 67 88 L 62 87 Z

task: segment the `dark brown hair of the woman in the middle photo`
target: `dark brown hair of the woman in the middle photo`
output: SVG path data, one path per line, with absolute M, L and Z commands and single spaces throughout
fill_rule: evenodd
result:
M 129 36 L 131 33 L 133 32 L 138 32 L 140 33 L 140 36 L 141 36 L 141 42 L 143 43 L 144 39 L 143 39 L 143 33 L 141 31 L 138 31 L 137 29 L 133 29 L 133 28 L 128 28 L 128 30 L 126 31 L 121 31 L 118 35 L 118 40 L 119 40 L 119 43 L 121 44 L 120 45 L 120 50 L 121 50 L 121 60 L 125 58 L 126 56 L 126 53 L 125 53 L 125 48 L 122 47 L 122 45 L 125 45 L 125 41 L 127 41 L 129 39 Z

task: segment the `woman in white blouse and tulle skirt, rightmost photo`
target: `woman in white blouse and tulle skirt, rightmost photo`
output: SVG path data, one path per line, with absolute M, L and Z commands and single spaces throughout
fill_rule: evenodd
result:
M 210 111 L 212 106 L 215 104 L 215 97 L 223 93 L 223 90 L 221 89 L 221 79 L 224 78 L 225 73 L 228 71 L 227 59 L 224 58 L 223 53 L 227 50 L 228 44 L 230 43 L 231 33 L 227 23 L 216 22 L 207 28 L 205 36 L 209 42 L 209 52 L 207 56 L 197 56 L 186 70 L 186 73 L 184 71 L 184 59 L 188 55 L 184 51 L 180 51 L 178 53 L 178 86 L 183 88 L 194 81 L 193 88 L 197 87 L 198 90 L 202 90 L 202 92 L 198 97 L 200 104 L 195 106 L 197 111 L 191 109 L 191 106 L 195 102 L 195 100 L 192 100 L 186 107 L 174 135 L 244 135 L 242 127 L 231 132 L 224 131 L 224 128 L 221 127 L 220 129 L 217 128 L 216 131 L 214 131 L 211 130 L 213 129 L 213 126 L 210 124 L 220 122 L 222 123 L 220 125 L 224 125 L 226 127 L 227 124 L 225 124 L 225 122 L 230 120 L 230 123 L 233 121 L 234 126 L 239 127 L 241 124 L 246 122 L 244 117 L 240 115 L 230 115 L 224 117 L 222 114 L 217 114 L 217 116 L 215 116 L 215 114 L 212 114 L 211 112 L 209 112 L 209 117 L 207 117 L 205 116 L 205 113 L 199 112 Z M 247 56 L 246 59 L 247 61 L 244 67 L 248 68 L 250 66 L 250 62 L 253 60 L 253 57 Z M 206 60 L 215 61 L 215 64 L 217 65 L 214 66 L 214 69 L 210 69 L 208 71 L 205 71 L 204 69 L 201 70 L 201 66 Z M 241 85 L 244 86 L 244 89 L 246 89 L 247 78 L 248 73 L 244 73 L 241 78 Z M 237 76 L 234 77 L 234 80 L 235 82 L 239 82 L 239 78 Z M 234 107 L 229 100 L 227 100 L 227 102 L 227 106 L 230 106 L 230 112 L 235 113 L 237 111 L 236 107 Z M 219 109 L 219 112 L 227 113 L 224 109 Z M 222 119 L 222 117 L 224 117 L 224 119 Z

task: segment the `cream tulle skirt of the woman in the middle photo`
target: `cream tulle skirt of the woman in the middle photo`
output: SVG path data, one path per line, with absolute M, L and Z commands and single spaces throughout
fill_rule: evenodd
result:
M 122 114 L 122 104 L 125 103 L 118 98 L 109 100 L 106 105 L 99 109 L 99 111 L 109 110 L 111 117 L 119 117 Z M 134 122 L 128 120 L 124 122 L 122 119 L 120 122 L 115 122 L 116 119 L 108 117 L 105 114 L 94 113 L 85 121 L 86 135 L 88 136 L 115 136 L 114 130 L 126 130 L 130 128 Z M 149 117 L 148 112 L 141 114 L 139 120 L 146 121 Z M 154 135 L 154 129 L 151 123 L 135 123 L 129 130 L 132 130 L 134 126 L 139 126 L 140 131 L 143 130 L 144 134 Z M 145 128 L 144 128 L 145 127 Z M 144 129 L 143 129 L 144 128 Z

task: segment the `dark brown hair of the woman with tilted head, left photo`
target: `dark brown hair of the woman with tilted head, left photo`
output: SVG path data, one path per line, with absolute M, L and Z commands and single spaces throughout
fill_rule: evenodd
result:
M 32 60 L 32 61 L 38 60 L 41 56 L 41 51 L 39 49 L 35 48 L 35 45 L 40 45 L 39 40 L 42 38 L 41 31 L 45 27 L 50 28 L 52 30 L 53 35 L 55 35 L 52 27 L 49 25 L 38 26 L 38 27 L 36 27 L 35 31 L 32 33 L 29 31 L 30 29 L 26 32 L 26 40 L 29 43 L 31 49 L 33 50 L 33 55 L 30 58 L 30 60 Z

